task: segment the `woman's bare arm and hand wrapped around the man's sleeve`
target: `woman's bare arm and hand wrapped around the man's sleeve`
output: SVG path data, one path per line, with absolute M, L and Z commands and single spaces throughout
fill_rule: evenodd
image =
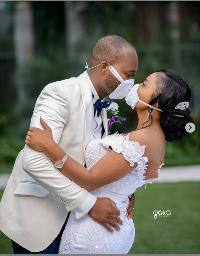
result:
M 40 122 L 45 130 L 30 127 L 27 133 L 30 137 L 25 140 L 25 143 L 29 147 L 45 152 L 55 163 L 55 161 L 61 160 L 66 153 L 53 140 L 51 128 L 42 119 L 40 119 Z M 134 166 L 130 166 L 130 163 L 124 159 L 123 154 L 111 151 L 102 157 L 90 170 L 84 168 L 71 157 L 68 157 L 63 168 L 59 170 L 79 186 L 92 191 L 123 178 L 136 165 L 137 163 L 134 163 Z

